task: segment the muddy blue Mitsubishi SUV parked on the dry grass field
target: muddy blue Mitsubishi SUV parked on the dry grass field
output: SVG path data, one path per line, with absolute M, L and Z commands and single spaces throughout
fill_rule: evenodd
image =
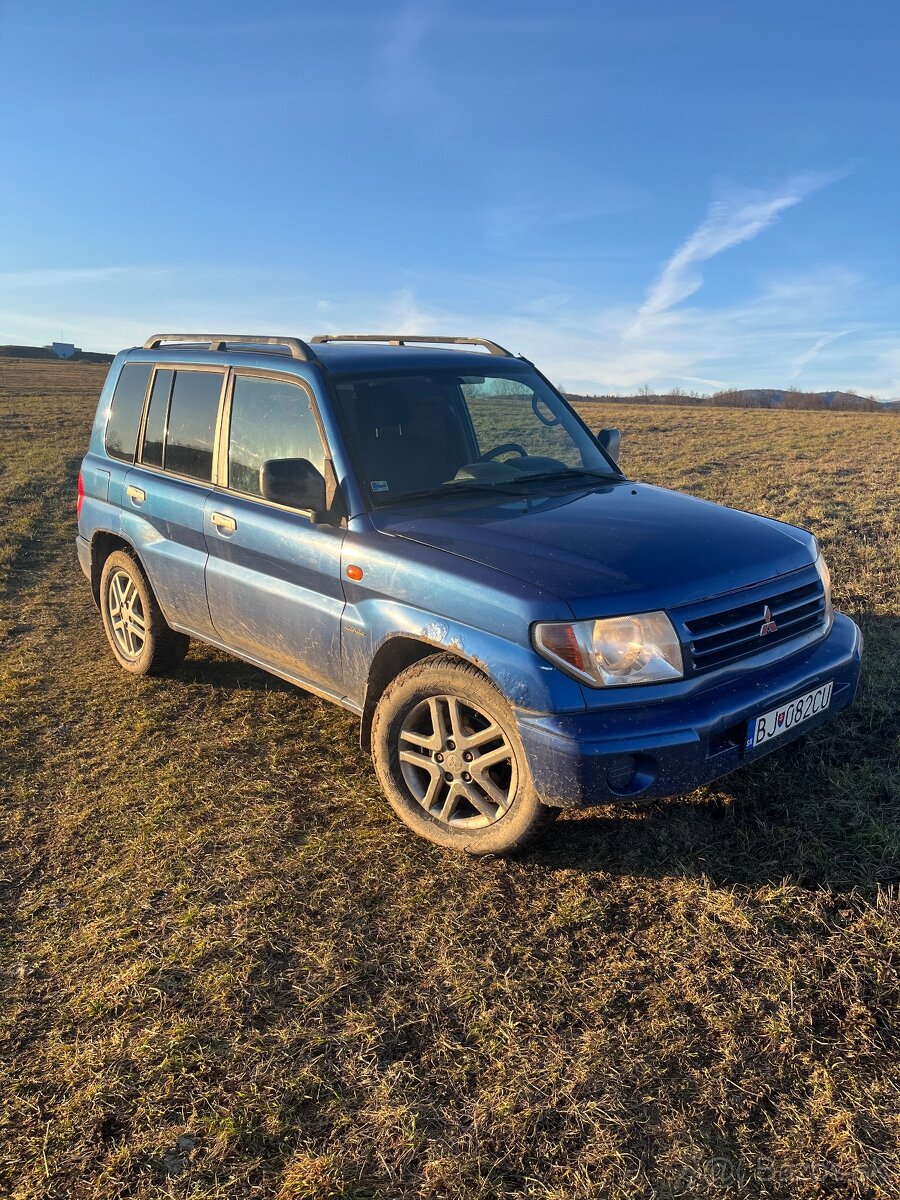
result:
M 407 826 L 504 853 L 856 694 L 815 538 L 630 480 L 618 442 L 484 338 L 155 335 L 100 397 L 78 558 L 124 670 L 197 637 L 335 701 Z

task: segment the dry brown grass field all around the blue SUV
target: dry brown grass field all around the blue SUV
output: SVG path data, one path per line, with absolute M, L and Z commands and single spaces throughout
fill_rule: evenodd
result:
M 416 841 L 354 720 L 108 653 L 104 368 L 0 361 L 0 1195 L 900 1194 L 900 420 L 642 408 L 625 469 L 815 530 L 853 710 L 510 862 Z

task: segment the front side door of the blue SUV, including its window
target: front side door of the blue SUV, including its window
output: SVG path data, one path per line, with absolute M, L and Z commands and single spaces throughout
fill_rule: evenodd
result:
M 235 370 L 218 486 L 205 502 L 210 614 L 223 646 L 340 697 L 344 532 L 263 497 L 272 458 L 306 458 L 325 474 L 312 392 L 296 377 Z

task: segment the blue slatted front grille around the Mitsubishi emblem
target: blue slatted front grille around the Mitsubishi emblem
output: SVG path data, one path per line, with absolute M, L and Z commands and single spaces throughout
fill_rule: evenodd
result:
M 770 594 L 764 588 L 754 588 L 752 599 L 743 604 L 739 602 L 739 593 L 722 596 L 722 604 L 727 604 L 727 607 L 710 612 L 707 605 L 702 616 L 683 620 L 695 674 L 768 650 L 779 642 L 788 642 L 823 624 L 824 589 L 817 574 L 811 578 L 806 576 L 786 590 L 775 590 L 778 581 L 773 581 L 770 586 Z M 767 606 L 778 629 L 762 636 Z

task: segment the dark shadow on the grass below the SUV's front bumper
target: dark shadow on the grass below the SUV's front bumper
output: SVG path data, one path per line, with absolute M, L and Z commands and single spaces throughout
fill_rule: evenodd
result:
M 587 809 L 544 834 L 523 862 L 553 869 L 643 878 L 708 877 L 722 887 L 782 883 L 876 889 L 900 882 L 900 802 L 887 758 L 834 750 L 846 737 L 821 734 L 787 746 L 694 796 L 647 809 Z

